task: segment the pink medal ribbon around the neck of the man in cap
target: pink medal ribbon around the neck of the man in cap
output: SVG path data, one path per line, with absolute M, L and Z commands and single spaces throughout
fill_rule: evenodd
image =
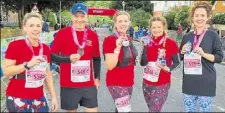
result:
M 84 29 L 84 35 L 83 35 L 83 43 L 82 45 L 79 44 L 78 42 L 78 39 L 77 39 L 77 33 L 75 32 L 75 27 L 74 26 L 71 26 L 71 30 L 72 30 L 72 34 L 73 34 L 73 40 L 74 40 L 74 43 L 81 49 L 84 48 L 84 46 L 86 45 L 86 42 L 87 42 L 87 27 L 85 26 L 85 29 Z

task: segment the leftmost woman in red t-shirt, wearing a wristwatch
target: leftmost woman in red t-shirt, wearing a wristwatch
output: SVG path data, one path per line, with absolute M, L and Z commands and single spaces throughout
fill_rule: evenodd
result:
M 48 112 L 44 96 L 45 83 L 52 97 L 52 111 L 58 108 L 50 71 L 50 49 L 39 41 L 42 16 L 27 13 L 23 19 L 25 39 L 9 44 L 3 64 L 4 76 L 10 77 L 6 90 L 9 112 Z

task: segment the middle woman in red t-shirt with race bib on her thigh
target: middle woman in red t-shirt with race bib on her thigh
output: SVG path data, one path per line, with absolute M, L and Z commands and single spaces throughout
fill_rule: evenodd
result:
M 127 35 L 130 15 L 125 11 L 113 17 L 114 34 L 105 38 L 103 53 L 108 69 L 106 85 L 119 112 L 130 112 L 130 98 L 134 84 L 134 66 L 137 51 Z

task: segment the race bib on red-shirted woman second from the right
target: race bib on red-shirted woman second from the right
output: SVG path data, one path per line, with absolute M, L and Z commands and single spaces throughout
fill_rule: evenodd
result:
M 143 78 L 150 82 L 158 82 L 161 68 L 155 65 L 155 62 L 148 62 L 144 68 Z

